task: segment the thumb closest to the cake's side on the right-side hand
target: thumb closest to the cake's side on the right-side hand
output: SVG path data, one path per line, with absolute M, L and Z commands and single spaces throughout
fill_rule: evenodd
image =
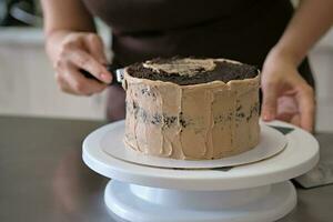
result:
M 278 85 L 269 83 L 262 85 L 263 102 L 261 108 L 261 117 L 264 121 L 274 120 L 278 109 Z

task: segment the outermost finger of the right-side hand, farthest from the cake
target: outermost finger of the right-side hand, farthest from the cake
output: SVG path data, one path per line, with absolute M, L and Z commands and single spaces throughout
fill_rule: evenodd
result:
M 313 89 L 307 84 L 302 87 L 299 91 L 297 100 L 300 109 L 300 127 L 309 132 L 312 132 L 315 112 Z

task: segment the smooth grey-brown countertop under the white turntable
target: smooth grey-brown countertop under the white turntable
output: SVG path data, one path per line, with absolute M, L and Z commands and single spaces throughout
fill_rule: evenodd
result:
M 108 179 L 81 159 L 83 139 L 103 124 L 0 115 L 0 221 L 115 222 L 103 202 Z M 333 144 L 333 133 L 316 138 L 322 150 Z M 279 222 L 333 221 L 333 185 L 297 188 L 297 201 Z

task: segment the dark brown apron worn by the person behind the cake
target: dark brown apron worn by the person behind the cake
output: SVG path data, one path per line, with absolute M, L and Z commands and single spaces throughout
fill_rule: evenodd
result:
M 262 67 L 293 7 L 289 0 L 83 0 L 112 29 L 113 65 L 154 57 L 229 58 Z M 314 85 L 306 60 L 301 74 Z M 124 92 L 110 87 L 107 117 L 124 118 Z

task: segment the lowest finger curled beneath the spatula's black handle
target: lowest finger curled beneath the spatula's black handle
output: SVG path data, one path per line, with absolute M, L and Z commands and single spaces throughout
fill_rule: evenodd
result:
M 91 95 L 107 88 L 107 84 L 84 78 L 75 67 L 69 67 L 63 78 L 69 90 L 75 94 Z

